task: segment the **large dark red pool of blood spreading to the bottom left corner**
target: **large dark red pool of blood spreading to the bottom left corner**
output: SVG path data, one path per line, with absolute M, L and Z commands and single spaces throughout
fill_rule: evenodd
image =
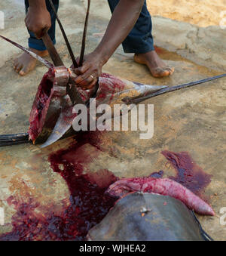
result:
M 53 211 L 38 214 L 35 202 L 17 202 L 8 199 L 17 213 L 12 218 L 11 233 L 0 236 L 0 240 L 84 240 L 88 230 L 98 224 L 117 199 L 105 195 L 108 186 L 117 178 L 108 170 L 95 174 L 83 174 L 87 156 L 80 150 L 90 143 L 96 150 L 99 138 L 96 132 L 79 134 L 76 143 L 67 150 L 60 150 L 49 157 L 53 171 L 59 173 L 68 184 L 70 204 L 62 214 Z M 72 156 L 76 156 L 74 160 Z M 81 161 L 83 159 L 83 162 Z M 88 160 L 89 161 L 89 160 Z M 50 205 L 49 205 L 49 208 Z

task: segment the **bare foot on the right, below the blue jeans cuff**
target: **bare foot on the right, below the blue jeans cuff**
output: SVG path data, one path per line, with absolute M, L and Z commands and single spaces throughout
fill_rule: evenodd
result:
M 156 51 L 149 51 L 146 54 L 135 54 L 134 61 L 148 66 L 151 75 L 157 78 L 170 76 L 174 72 L 174 68 L 166 66 L 163 60 L 158 57 Z

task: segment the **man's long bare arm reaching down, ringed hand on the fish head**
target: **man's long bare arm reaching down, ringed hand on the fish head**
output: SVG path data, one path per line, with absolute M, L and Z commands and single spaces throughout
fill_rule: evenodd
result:
M 83 66 L 75 69 L 76 73 L 81 74 L 75 80 L 78 86 L 92 88 L 96 84 L 97 78 L 102 72 L 102 66 L 133 29 L 143 5 L 144 0 L 120 0 L 102 41 L 93 53 L 85 57 Z

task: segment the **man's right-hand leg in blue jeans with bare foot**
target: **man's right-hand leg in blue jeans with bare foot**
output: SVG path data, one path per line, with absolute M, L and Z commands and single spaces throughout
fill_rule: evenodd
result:
M 108 0 L 111 12 L 115 10 L 120 0 Z M 127 39 L 123 42 L 124 52 L 134 53 L 134 60 L 148 66 L 151 75 L 163 77 L 173 74 L 174 69 L 166 66 L 163 60 L 154 51 L 154 40 L 152 37 L 151 15 L 148 12 L 146 1 L 143 5 L 139 19 L 131 30 Z

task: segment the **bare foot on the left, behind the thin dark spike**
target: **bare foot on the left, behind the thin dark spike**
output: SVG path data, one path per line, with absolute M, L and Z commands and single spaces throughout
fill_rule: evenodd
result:
M 41 57 L 45 57 L 48 55 L 47 50 L 38 51 L 32 48 L 30 48 L 29 50 L 35 52 L 35 54 L 38 54 Z M 25 52 L 14 60 L 14 69 L 16 72 L 19 72 L 20 76 L 25 76 L 28 72 L 35 69 L 36 61 L 37 60 L 35 60 L 35 58 Z

